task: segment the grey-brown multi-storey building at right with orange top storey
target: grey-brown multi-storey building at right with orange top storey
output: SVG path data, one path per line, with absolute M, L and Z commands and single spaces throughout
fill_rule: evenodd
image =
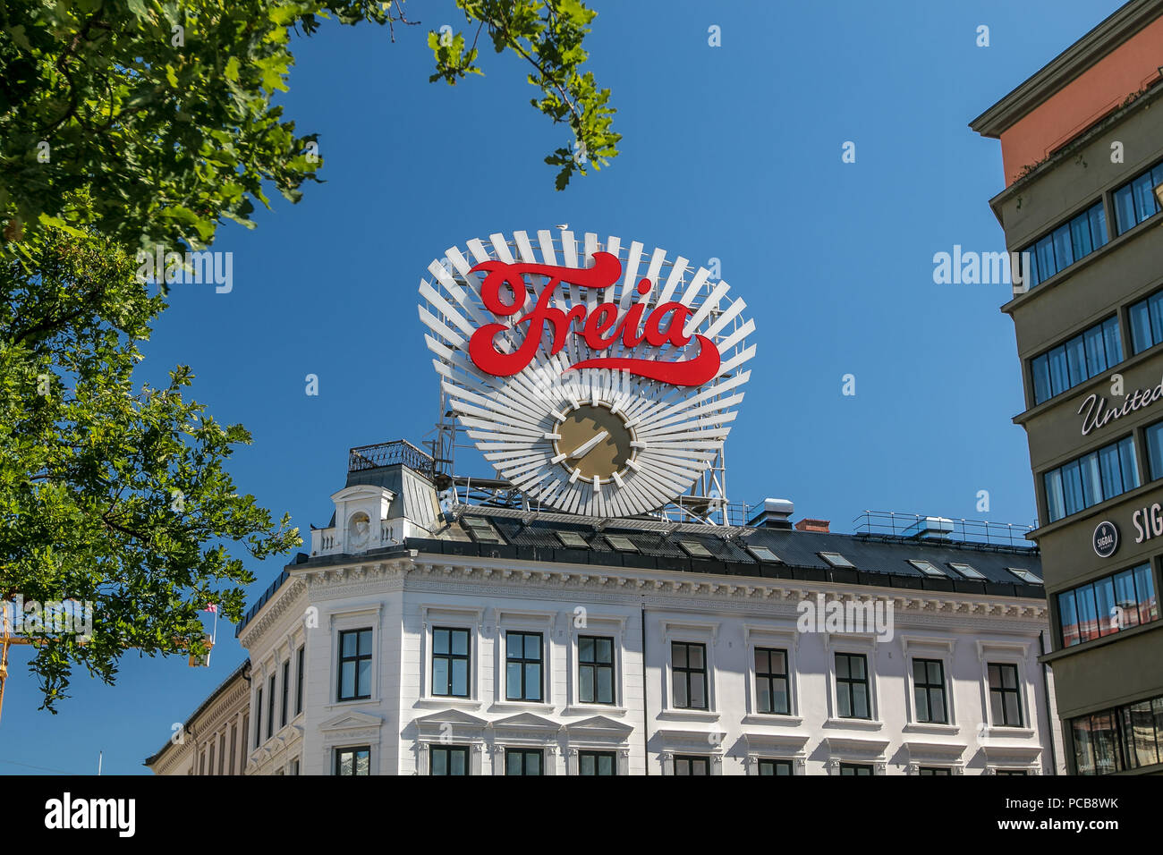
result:
M 1057 714 L 1076 774 L 1163 770 L 1163 2 L 1134 0 L 971 123 L 1028 254 L 1026 391 Z

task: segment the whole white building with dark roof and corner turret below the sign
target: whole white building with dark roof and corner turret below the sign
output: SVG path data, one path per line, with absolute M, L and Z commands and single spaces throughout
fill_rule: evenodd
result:
M 366 456 L 240 626 L 245 774 L 1056 772 L 1033 547 L 442 510 Z

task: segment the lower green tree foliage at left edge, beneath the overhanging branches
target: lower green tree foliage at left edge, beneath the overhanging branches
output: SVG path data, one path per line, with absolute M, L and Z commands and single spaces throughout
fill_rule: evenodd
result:
M 31 670 L 44 706 L 64 697 L 73 663 L 113 682 L 128 648 L 205 653 L 199 610 L 238 620 L 255 558 L 298 546 L 237 494 L 223 465 L 249 443 L 165 387 L 134 387 L 140 343 L 164 307 L 136 264 L 99 237 L 43 229 L 29 276 L 0 269 L 0 599 L 90 600 L 93 636 L 44 627 Z

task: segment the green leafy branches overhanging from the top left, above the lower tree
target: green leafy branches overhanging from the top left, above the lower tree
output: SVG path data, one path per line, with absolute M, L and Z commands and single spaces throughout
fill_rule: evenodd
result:
M 498 51 L 531 63 L 534 105 L 570 124 L 590 162 L 616 154 L 609 92 L 579 71 L 593 12 L 579 0 L 456 2 Z M 298 201 L 322 164 L 316 135 L 300 134 L 272 100 L 287 88 L 293 31 L 311 35 L 328 19 L 386 24 L 393 37 L 419 23 L 398 0 L 5 0 L 5 238 L 92 226 L 128 247 L 201 248 L 224 220 L 251 226 L 271 186 Z M 463 36 L 429 41 L 435 79 L 479 72 Z M 559 187 L 584 173 L 580 159 L 568 147 L 547 158 L 562 168 Z M 80 191 L 84 206 L 71 201 Z

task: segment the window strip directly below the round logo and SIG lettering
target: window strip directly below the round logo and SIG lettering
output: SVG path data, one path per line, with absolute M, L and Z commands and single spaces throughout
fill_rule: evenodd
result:
M 1150 564 L 1121 570 L 1058 594 L 1062 647 L 1158 620 Z

